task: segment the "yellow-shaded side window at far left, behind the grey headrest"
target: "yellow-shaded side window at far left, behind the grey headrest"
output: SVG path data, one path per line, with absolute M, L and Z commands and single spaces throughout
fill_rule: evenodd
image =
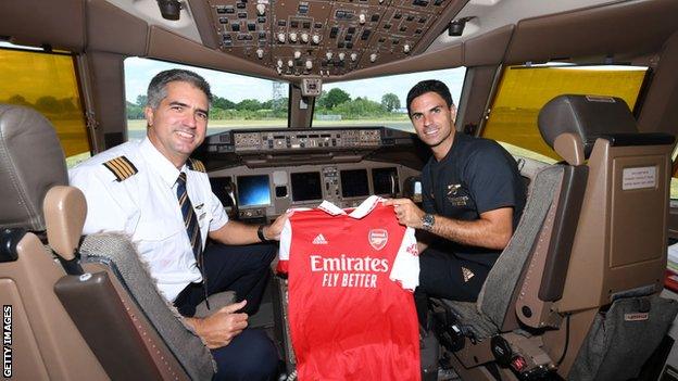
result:
M 0 103 L 39 111 L 54 126 L 68 167 L 90 156 L 75 58 L 0 45 Z

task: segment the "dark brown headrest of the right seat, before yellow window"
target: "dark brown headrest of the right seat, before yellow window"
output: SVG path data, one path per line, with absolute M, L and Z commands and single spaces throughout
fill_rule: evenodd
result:
M 551 148 L 562 134 L 581 138 L 583 154 L 591 154 L 595 139 L 612 134 L 638 134 L 636 119 L 626 102 L 616 97 L 558 96 L 539 112 L 539 131 Z

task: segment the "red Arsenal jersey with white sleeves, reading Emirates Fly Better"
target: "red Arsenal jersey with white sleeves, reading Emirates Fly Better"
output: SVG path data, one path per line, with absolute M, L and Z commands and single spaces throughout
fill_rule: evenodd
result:
M 280 237 L 300 380 L 419 380 L 414 229 L 372 196 L 294 211 Z

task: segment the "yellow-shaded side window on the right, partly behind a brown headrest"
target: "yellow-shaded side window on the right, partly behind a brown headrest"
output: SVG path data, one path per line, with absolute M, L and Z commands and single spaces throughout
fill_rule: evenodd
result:
M 633 110 L 648 74 L 642 66 L 510 66 L 502 73 L 489 119 L 480 135 L 512 154 L 547 163 L 562 158 L 541 138 L 537 116 L 560 94 L 618 97 Z

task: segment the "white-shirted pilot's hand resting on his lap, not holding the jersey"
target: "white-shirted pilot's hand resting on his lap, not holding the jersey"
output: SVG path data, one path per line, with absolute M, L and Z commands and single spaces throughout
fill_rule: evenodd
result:
M 186 321 L 193 328 L 210 350 L 226 346 L 240 334 L 248 326 L 248 315 L 238 314 L 247 301 L 223 307 L 204 319 L 187 318 Z

